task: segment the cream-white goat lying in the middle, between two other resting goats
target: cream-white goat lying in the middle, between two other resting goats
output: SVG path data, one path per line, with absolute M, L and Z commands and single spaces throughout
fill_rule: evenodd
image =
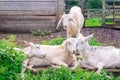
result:
M 31 57 L 29 66 L 27 67 L 32 69 L 33 66 L 44 66 L 50 64 L 53 67 L 59 68 L 61 66 L 68 67 L 70 65 L 74 65 L 76 63 L 76 57 L 74 56 L 76 43 L 77 40 L 75 38 L 69 38 L 61 45 L 41 45 L 40 48 L 46 53 L 43 60 L 47 60 L 48 62 L 46 63 L 38 57 Z

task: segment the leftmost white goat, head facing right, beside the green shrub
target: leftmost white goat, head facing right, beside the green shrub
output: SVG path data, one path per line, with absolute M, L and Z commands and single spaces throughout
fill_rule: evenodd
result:
M 39 60 L 36 60 L 37 62 L 34 61 L 34 64 L 37 63 L 37 65 L 39 66 L 39 64 L 42 66 L 43 63 L 42 62 L 45 62 L 46 64 L 44 64 L 44 66 L 46 65 L 50 65 L 50 62 L 48 62 L 46 59 L 43 60 L 42 58 L 45 58 L 46 54 L 45 52 L 40 48 L 40 45 L 39 44 L 33 44 L 32 42 L 29 43 L 29 47 L 26 47 L 24 48 L 23 50 L 22 49 L 19 49 L 19 48 L 14 48 L 16 51 L 23 51 L 25 56 L 28 57 L 27 60 L 23 61 L 23 66 L 25 68 L 22 69 L 22 72 L 21 72 L 21 75 L 22 75 L 22 79 L 24 78 L 24 72 L 26 70 L 26 68 L 28 69 L 31 69 L 31 67 L 33 67 L 32 65 L 30 66 L 27 66 L 28 63 L 32 60 L 36 60 L 36 59 L 39 59 Z M 35 57 L 35 58 L 34 58 Z M 33 63 L 29 63 L 29 64 L 33 64 Z M 36 65 L 36 66 L 37 66 Z M 32 68 L 32 70 L 35 72 L 36 70 Z

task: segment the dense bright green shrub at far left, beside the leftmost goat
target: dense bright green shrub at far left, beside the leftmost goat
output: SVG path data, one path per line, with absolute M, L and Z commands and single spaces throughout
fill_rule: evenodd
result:
M 22 69 L 22 52 L 16 52 L 15 36 L 8 40 L 0 40 L 0 80 L 16 80 Z

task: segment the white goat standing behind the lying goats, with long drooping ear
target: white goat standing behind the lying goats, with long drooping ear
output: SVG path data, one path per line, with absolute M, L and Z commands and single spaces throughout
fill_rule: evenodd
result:
M 56 29 L 59 27 L 61 22 L 63 23 L 63 28 L 67 30 L 67 38 L 76 38 L 84 24 L 84 17 L 82 15 L 81 8 L 73 6 L 70 9 L 69 14 L 64 13 L 59 20 Z

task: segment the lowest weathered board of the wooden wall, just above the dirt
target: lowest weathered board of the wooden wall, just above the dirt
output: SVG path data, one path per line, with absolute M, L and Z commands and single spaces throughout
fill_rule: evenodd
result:
M 51 30 L 54 31 L 54 23 L 51 24 L 0 24 L 0 31 L 4 32 L 32 32 L 35 30 Z M 53 30 L 54 29 L 54 30 Z

